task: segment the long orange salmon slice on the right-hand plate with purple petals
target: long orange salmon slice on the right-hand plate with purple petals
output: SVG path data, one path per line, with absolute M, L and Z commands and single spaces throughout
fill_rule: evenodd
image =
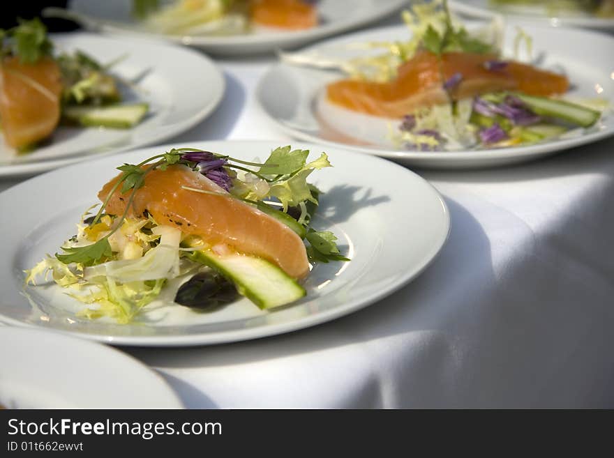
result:
M 402 118 L 420 107 L 448 102 L 444 82 L 457 73 L 460 82 L 450 89 L 454 100 L 495 91 L 521 91 L 531 96 L 553 96 L 567 92 L 569 81 L 563 75 L 509 61 L 499 70 L 489 70 L 488 54 L 448 52 L 440 59 L 422 51 L 398 68 L 391 82 L 365 82 L 343 79 L 327 86 L 331 102 L 357 112 Z

